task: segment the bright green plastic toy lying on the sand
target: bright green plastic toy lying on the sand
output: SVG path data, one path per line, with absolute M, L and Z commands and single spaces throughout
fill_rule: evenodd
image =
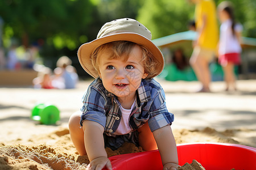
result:
M 31 111 L 31 118 L 41 124 L 52 125 L 60 120 L 60 111 L 55 105 L 37 104 Z

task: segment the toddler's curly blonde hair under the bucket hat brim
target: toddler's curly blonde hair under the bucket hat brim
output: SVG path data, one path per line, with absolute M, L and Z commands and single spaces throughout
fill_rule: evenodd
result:
M 149 52 L 146 48 L 144 48 L 144 46 L 136 44 L 135 42 L 113 41 L 113 42 L 108 42 L 106 44 L 98 46 L 98 48 L 94 51 L 94 53 L 90 57 L 90 61 L 92 62 L 92 65 L 94 69 L 97 71 L 97 73 L 100 73 L 100 70 L 98 68 L 100 57 L 98 56 L 101 56 L 101 53 L 103 53 L 106 49 L 112 49 L 112 55 L 110 55 L 110 59 L 119 59 L 121 57 L 124 57 L 123 58 L 124 61 L 127 61 L 127 59 L 129 58 L 129 54 L 135 45 L 138 45 L 141 47 L 144 71 L 145 73 L 148 74 L 147 77 L 151 77 L 151 75 L 154 74 L 155 67 L 158 63 L 154 61 L 154 57 L 152 56 L 151 52 Z

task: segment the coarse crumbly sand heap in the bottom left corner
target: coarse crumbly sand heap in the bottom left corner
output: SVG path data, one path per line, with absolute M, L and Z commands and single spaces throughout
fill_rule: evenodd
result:
M 76 162 L 75 156 L 56 152 L 46 145 L 3 146 L 0 151 L 0 169 L 85 169 L 85 164 Z

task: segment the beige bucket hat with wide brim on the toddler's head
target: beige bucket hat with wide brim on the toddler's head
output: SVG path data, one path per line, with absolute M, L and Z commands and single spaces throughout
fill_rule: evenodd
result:
M 131 41 L 144 46 L 144 48 L 153 54 L 154 61 L 157 62 L 158 65 L 156 65 L 155 73 L 152 74 L 151 77 L 147 77 L 153 78 L 162 72 L 164 59 L 158 47 L 151 41 L 151 37 L 151 32 L 137 20 L 130 18 L 113 20 L 101 27 L 96 40 L 80 46 L 77 53 L 79 62 L 88 74 L 97 78 L 98 73 L 94 69 L 90 57 L 98 46 L 112 41 Z

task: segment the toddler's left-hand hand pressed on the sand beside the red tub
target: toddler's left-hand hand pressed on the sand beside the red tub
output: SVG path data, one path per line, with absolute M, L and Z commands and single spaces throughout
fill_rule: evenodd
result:
M 86 170 L 101 170 L 106 166 L 107 169 L 112 170 L 111 162 L 108 158 L 101 156 L 93 159 L 90 164 L 86 167 Z

